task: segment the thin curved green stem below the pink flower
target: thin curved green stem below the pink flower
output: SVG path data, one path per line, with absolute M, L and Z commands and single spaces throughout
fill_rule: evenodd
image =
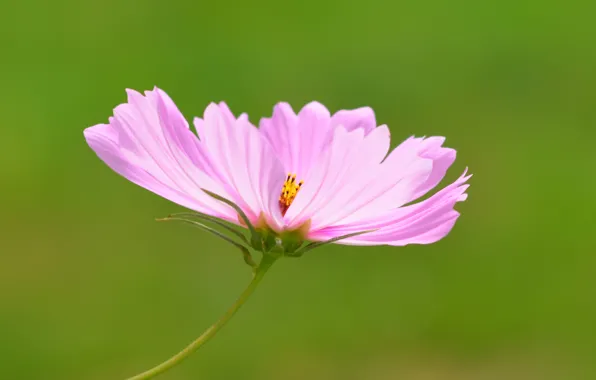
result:
M 215 334 L 217 334 L 217 332 L 230 319 L 232 319 L 232 317 L 234 316 L 234 314 L 236 314 L 238 309 L 240 309 L 240 307 L 246 302 L 246 300 L 250 297 L 250 295 L 253 293 L 253 291 L 257 288 L 257 285 L 259 285 L 259 283 L 263 279 L 263 276 L 265 275 L 267 270 L 275 262 L 275 260 L 277 260 L 277 257 L 263 254 L 263 258 L 261 259 L 261 262 L 259 263 L 259 267 L 255 271 L 255 275 L 254 275 L 252 281 L 248 284 L 248 286 L 246 287 L 244 292 L 242 292 L 242 294 L 240 295 L 240 297 L 238 297 L 236 302 L 234 302 L 232 307 L 230 307 L 228 309 L 228 311 L 226 311 L 226 313 L 217 322 L 215 322 L 215 324 L 213 324 L 211 327 L 209 327 L 207 330 L 205 330 L 205 332 L 200 337 L 198 337 L 191 344 L 189 344 L 185 349 L 183 349 L 176 355 L 172 356 L 165 362 L 159 364 L 156 367 L 151 368 L 150 370 L 147 370 L 143 373 L 133 376 L 127 380 L 145 380 L 145 379 L 150 379 L 154 376 L 157 376 L 157 375 L 167 371 L 168 369 L 174 367 L 175 365 L 179 364 L 181 361 L 186 359 L 190 354 L 192 354 L 197 349 L 199 349 L 201 346 L 203 346 L 205 343 L 207 343 L 209 341 L 209 339 L 213 338 L 215 336 Z

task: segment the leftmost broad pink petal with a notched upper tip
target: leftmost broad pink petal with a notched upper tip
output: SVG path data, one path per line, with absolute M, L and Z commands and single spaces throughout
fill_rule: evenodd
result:
M 244 197 L 221 181 L 227 173 L 220 172 L 221 165 L 163 91 L 143 96 L 128 90 L 128 103 L 116 107 L 110 124 L 87 128 L 85 137 L 106 164 L 132 182 L 182 206 L 238 223 L 232 208 L 201 188 L 235 201 Z M 253 208 L 248 211 L 255 213 Z

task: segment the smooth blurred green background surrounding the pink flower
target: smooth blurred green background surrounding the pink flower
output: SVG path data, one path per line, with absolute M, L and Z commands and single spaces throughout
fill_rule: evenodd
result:
M 30 0 L 0 6 L 0 378 L 121 379 L 183 348 L 250 274 L 155 217 L 83 129 L 124 89 L 188 119 L 373 107 L 447 136 L 470 197 L 430 246 L 274 267 L 164 379 L 596 378 L 596 27 L 588 2 Z

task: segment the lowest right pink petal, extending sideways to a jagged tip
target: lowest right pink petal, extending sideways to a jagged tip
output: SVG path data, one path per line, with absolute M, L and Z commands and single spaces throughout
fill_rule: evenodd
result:
M 466 172 L 454 183 L 432 197 L 407 207 L 389 211 L 386 215 L 341 226 L 311 231 L 309 238 L 327 240 L 345 234 L 376 229 L 375 232 L 340 240 L 339 244 L 353 245 L 406 245 L 430 244 L 445 237 L 453 228 L 459 213 L 455 203 L 464 201 L 471 175 Z

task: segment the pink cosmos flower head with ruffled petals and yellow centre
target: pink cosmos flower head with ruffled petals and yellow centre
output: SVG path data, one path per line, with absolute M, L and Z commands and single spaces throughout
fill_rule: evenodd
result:
M 109 124 L 85 130 L 89 146 L 128 180 L 186 208 L 244 225 L 235 203 L 257 229 L 340 244 L 428 244 L 449 233 L 466 199 L 464 172 L 430 198 L 455 160 L 443 137 L 411 137 L 389 152 L 386 125 L 364 107 L 331 115 L 320 103 L 298 114 L 275 106 L 260 128 L 225 103 L 195 118 L 197 136 L 160 89 L 128 90 Z M 359 234 L 358 232 L 367 231 Z

